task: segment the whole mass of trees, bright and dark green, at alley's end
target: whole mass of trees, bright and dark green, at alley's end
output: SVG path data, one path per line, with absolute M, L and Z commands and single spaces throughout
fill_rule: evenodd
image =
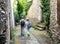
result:
M 17 4 L 16 4 L 17 2 Z M 14 0 L 13 9 L 15 15 L 15 22 L 18 22 L 21 19 L 21 16 L 26 16 L 27 11 L 30 8 L 32 1 L 27 2 L 27 0 Z

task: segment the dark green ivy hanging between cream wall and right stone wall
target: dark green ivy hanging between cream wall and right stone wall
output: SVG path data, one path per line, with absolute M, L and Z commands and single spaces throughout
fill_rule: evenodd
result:
M 41 0 L 42 14 L 43 14 L 43 22 L 48 27 L 50 24 L 50 0 Z

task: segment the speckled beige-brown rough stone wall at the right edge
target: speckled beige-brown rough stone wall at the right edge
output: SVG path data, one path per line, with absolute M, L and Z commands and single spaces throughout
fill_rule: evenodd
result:
M 55 43 L 58 44 L 60 41 L 60 29 L 58 25 L 58 18 L 57 18 L 57 0 L 50 0 L 50 9 L 51 9 L 51 15 L 50 15 L 50 30 L 52 33 L 52 38 Z

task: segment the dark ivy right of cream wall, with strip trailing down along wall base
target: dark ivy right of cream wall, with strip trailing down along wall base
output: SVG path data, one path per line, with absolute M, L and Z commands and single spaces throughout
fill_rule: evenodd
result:
M 50 0 L 41 0 L 42 4 L 42 15 L 43 15 L 43 22 L 45 23 L 47 27 L 47 32 L 49 33 L 50 38 L 53 40 L 53 44 L 58 44 L 57 43 L 57 38 L 52 37 L 51 30 L 49 29 L 50 25 Z

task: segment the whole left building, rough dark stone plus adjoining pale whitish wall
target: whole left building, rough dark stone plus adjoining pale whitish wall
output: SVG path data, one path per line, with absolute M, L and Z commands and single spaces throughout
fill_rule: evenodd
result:
M 0 0 L 0 44 L 10 44 L 10 30 L 14 26 L 12 17 L 11 0 Z

